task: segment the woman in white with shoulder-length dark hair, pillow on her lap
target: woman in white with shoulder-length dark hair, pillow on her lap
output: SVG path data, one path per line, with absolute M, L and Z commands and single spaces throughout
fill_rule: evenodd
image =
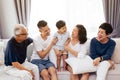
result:
M 84 58 L 87 54 L 87 33 L 83 25 L 76 25 L 72 31 L 72 39 L 69 44 L 66 44 L 64 47 L 68 51 L 68 58 Z M 80 64 L 80 63 L 78 63 Z M 79 80 L 78 74 L 72 74 L 72 68 L 68 65 L 68 70 L 71 73 L 71 80 Z M 87 80 L 88 74 L 82 74 L 81 80 Z

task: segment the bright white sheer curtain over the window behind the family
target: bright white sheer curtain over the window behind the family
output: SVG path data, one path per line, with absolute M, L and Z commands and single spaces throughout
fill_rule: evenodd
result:
M 58 20 L 66 21 L 71 32 L 76 24 L 83 24 L 88 38 L 96 36 L 98 26 L 104 22 L 102 0 L 31 0 L 30 36 L 38 33 L 37 22 L 46 20 L 51 33 Z

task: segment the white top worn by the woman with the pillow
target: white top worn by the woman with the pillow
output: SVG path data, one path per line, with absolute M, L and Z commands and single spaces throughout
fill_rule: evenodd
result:
M 84 44 L 80 44 L 79 42 L 75 45 L 72 45 L 71 42 L 69 43 L 69 46 L 78 52 L 78 58 L 84 58 L 87 53 L 88 53 L 88 45 L 87 45 L 87 41 Z M 68 52 L 68 58 L 71 57 L 75 57 L 73 54 L 71 54 L 70 52 Z

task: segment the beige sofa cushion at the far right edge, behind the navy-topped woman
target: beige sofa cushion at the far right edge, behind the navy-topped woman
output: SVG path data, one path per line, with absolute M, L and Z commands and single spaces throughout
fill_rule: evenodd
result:
M 112 56 L 112 60 L 116 64 L 120 64 L 120 38 L 113 38 L 113 40 L 116 42 L 116 46 Z

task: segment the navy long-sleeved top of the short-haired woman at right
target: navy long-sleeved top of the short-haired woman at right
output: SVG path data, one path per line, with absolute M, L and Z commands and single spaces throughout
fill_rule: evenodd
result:
M 95 59 L 102 57 L 103 60 L 110 60 L 115 49 L 115 41 L 108 38 L 107 43 L 100 43 L 96 38 L 93 38 L 90 43 L 90 57 Z

